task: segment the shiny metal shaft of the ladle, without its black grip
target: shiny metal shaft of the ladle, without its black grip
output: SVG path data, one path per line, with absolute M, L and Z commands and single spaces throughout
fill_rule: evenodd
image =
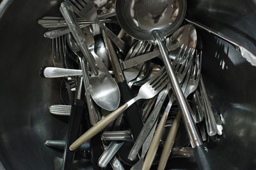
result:
M 166 48 L 163 45 L 161 36 L 158 31 L 153 31 L 154 38 L 156 39 L 156 43 L 159 46 L 160 53 L 163 58 L 164 66 L 166 69 L 166 72 L 168 74 L 170 83 L 172 85 L 172 90 L 175 94 L 176 100 L 178 101 L 179 108 L 182 113 L 182 118 L 185 122 L 186 131 L 188 132 L 188 136 L 191 142 L 191 146 L 194 148 L 195 146 L 202 145 L 202 140 L 198 134 L 198 131 L 196 130 L 195 124 L 193 122 L 193 119 L 191 117 L 191 108 L 188 105 L 188 101 L 186 101 L 184 94 L 180 88 L 179 81 L 177 80 L 177 77 L 173 71 L 172 64 L 169 60 L 168 53 Z M 190 108 L 190 109 L 189 109 Z

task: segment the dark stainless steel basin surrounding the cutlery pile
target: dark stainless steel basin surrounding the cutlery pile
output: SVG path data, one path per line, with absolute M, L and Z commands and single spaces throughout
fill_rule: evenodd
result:
M 11 1 L 0 4 L 0 169 L 61 169 L 63 154 L 44 145 L 65 139 L 68 118 L 53 116 L 60 104 L 59 79 L 40 76 L 53 66 L 51 40 L 37 20 L 60 16 L 61 1 Z M 188 17 L 240 41 L 256 53 L 255 1 L 188 1 Z M 225 124 L 209 148 L 214 169 L 256 168 L 256 67 L 224 41 L 198 32 L 203 43 L 205 87 Z M 172 159 L 170 169 L 196 169 L 193 159 Z M 90 161 L 74 169 L 90 169 Z M 152 167 L 154 169 L 156 167 Z

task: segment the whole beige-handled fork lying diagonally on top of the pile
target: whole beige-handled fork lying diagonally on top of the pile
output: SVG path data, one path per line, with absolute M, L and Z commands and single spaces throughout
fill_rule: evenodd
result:
M 156 96 L 168 83 L 166 71 L 164 68 L 159 71 L 154 78 L 148 80 L 143 86 L 141 86 L 139 93 L 136 97 L 120 106 L 118 109 L 110 113 L 103 120 L 95 124 L 91 129 L 85 132 L 80 138 L 78 138 L 72 145 L 70 145 L 70 150 L 75 150 L 80 145 L 88 141 L 90 138 L 95 136 L 95 134 L 102 131 L 108 124 L 113 122 L 115 118 L 117 118 L 123 111 L 125 111 L 129 106 L 134 104 L 136 101 L 140 99 L 151 99 Z

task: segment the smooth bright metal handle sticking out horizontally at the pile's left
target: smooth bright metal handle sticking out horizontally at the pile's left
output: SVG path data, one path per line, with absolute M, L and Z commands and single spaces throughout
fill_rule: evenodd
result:
M 46 78 L 81 76 L 81 69 L 63 69 L 58 67 L 46 67 L 44 69 L 44 76 Z

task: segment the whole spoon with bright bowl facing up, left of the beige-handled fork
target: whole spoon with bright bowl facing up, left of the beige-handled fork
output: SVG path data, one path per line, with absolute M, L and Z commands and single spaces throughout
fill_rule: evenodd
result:
M 72 35 L 76 39 L 76 43 L 79 46 L 81 53 L 83 53 L 83 55 L 79 55 L 82 60 L 83 72 L 86 71 L 84 68 L 86 67 L 85 60 L 87 60 L 92 69 L 93 74 L 89 78 L 90 86 L 88 89 L 93 101 L 105 110 L 115 110 L 120 103 L 120 91 L 116 81 L 111 77 L 111 75 L 106 73 L 106 71 L 103 71 L 106 66 L 104 66 L 100 60 L 95 60 L 92 53 L 88 50 L 86 37 L 76 22 L 74 12 L 70 10 L 66 3 L 61 3 L 60 11 L 65 18 Z M 102 68 L 104 69 L 102 70 Z M 108 69 L 106 68 L 106 70 Z

